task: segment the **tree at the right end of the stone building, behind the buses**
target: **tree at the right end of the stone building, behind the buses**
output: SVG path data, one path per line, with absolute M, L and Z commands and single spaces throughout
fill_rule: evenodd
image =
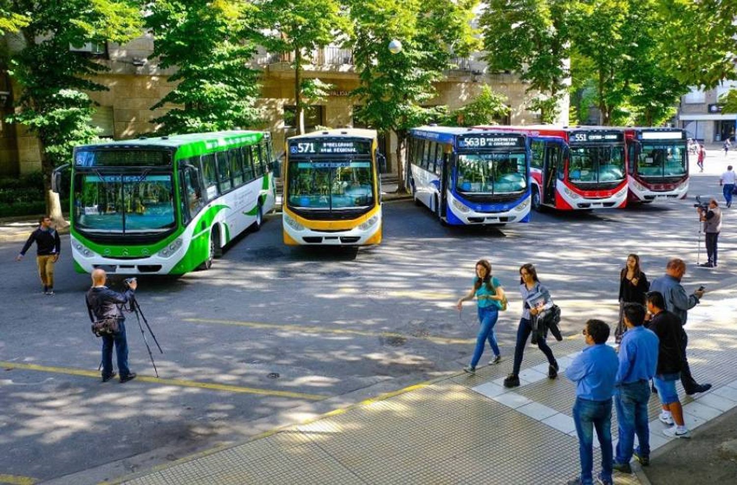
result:
M 481 15 L 486 62 L 493 71 L 513 71 L 539 93 L 531 103 L 542 120 L 554 121 L 570 73 L 568 0 L 486 0 Z

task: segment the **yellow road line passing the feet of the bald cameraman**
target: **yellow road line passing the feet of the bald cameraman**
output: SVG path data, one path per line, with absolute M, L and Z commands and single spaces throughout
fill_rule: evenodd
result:
M 4 362 L 0 361 L 0 367 L 5 369 L 25 369 L 35 370 L 39 372 L 55 372 L 57 374 L 67 375 L 80 375 L 88 378 L 99 379 L 99 372 L 85 369 L 72 369 L 69 367 L 51 367 L 41 366 L 38 364 L 20 364 L 18 362 Z M 184 380 L 184 379 L 167 379 L 167 378 L 155 378 L 150 375 L 138 375 L 137 381 L 149 382 L 154 384 L 167 384 L 170 386 L 180 387 L 198 387 L 200 389 L 209 389 L 212 391 L 225 391 L 225 392 L 237 392 L 243 394 L 260 394 L 262 396 L 276 396 L 276 397 L 292 397 L 295 399 L 307 399 L 313 401 L 319 401 L 327 399 L 330 396 L 324 394 L 307 394 L 304 392 L 292 392 L 292 391 L 274 391 L 271 389 L 257 389 L 254 387 L 242 387 L 232 386 L 230 384 L 218 384 L 210 382 L 200 382 L 198 380 Z

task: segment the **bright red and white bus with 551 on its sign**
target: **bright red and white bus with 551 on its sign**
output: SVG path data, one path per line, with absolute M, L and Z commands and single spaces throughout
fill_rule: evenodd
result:
M 622 128 L 496 126 L 530 136 L 532 206 L 559 210 L 624 208 L 626 155 Z

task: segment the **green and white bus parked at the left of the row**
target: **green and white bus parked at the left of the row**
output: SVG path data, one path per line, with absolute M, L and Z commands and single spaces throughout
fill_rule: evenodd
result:
M 268 132 L 225 131 L 78 146 L 71 163 L 77 272 L 183 275 L 258 229 L 276 199 Z M 60 171 L 54 174 L 55 190 Z

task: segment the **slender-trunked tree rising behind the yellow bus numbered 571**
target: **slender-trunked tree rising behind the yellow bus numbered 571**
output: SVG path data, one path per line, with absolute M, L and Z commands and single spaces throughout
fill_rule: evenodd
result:
M 327 46 L 346 32 L 349 23 L 338 0 L 259 0 L 263 26 L 270 29 L 262 44 L 270 52 L 291 54 L 297 133 L 304 133 L 303 66 L 315 49 Z

